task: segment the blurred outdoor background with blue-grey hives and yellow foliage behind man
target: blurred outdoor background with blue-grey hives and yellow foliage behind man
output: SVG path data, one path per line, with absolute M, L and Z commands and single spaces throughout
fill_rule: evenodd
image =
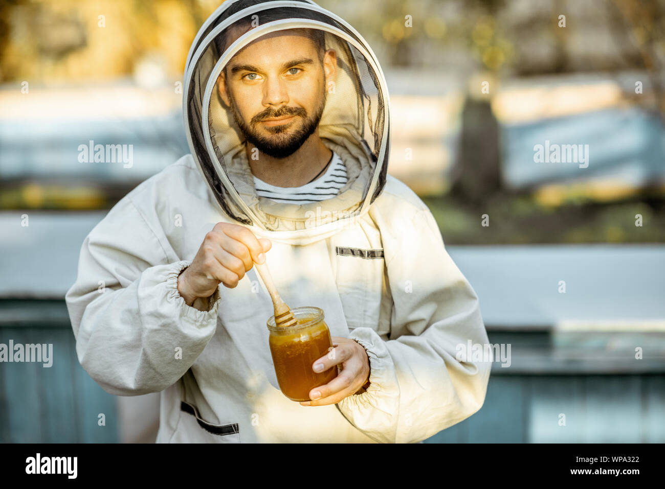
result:
M 665 442 L 665 0 L 318 3 L 378 56 L 388 172 L 511 346 L 427 442 Z M 190 152 L 184 64 L 219 5 L 0 1 L 0 343 L 54 351 L 0 363 L 0 442 L 154 441 L 159 395 L 88 376 L 64 296 L 92 227 Z M 90 141 L 133 165 L 79 162 Z

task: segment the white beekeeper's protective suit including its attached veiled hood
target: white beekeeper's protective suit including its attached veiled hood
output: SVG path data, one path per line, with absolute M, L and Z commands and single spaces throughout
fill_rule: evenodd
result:
M 257 197 L 214 80 L 243 45 L 301 27 L 325 31 L 337 52 L 319 135 L 348 183 L 297 205 Z M 456 359 L 458 345 L 488 343 L 477 296 L 432 213 L 386 174 L 388 93 L 362 37 L 309 1 L 227 1 L 201 27 L 184 87 L 192 154 L 94 227 L 66 294 L 90 376 L 116 395 L 160 391 L 158 442 L 417 442 L 478 411 L 491 362 Z M 267 265 L 289 306 L 323 309 L 331 336 L 365 347 L 367 391 L 314 407 L 279 391 L 266 326 L 273 304 L 255 268 L 235 288 L 220 284 L 209 301 L 185 303 L 178 274 L 221 221 L 272 241 Z

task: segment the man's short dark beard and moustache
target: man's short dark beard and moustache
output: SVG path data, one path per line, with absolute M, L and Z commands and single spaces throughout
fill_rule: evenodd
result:
M 249 124 L 247 124 L 239 114 L 235 100 L 230 92 L 229 98 L 231 98 L 231 112 L 233 112 L 233 119 L 245 136 L 245 139 L 259 148 L 261 153 L 265 153 L 273 158 L 283 159 L 291 156 L 303 146 L 303 143 L 307 141 L 307 138 L 314 134 L 317 127 L 319 127 L 319 121 L 321 121 L 327 98 L 327 92 L 324 90 L 323 93 L 324 96 L 320 98 L 319 107 L 317 107 L 315 114 L 312 116 L 308 116 L 307 110 L 302 107 L 282 106 L 277 110 L 269 107 L 251 118 Z M 263 136 L 262 134 L 259 134 L 257 124 L 262 120 L 286 116 L 303 118 L 303 125 L 295 132 L 289 133 L 289 128 L 297 122 L 297 119 L 294 119 L 287 124 L 281 124 L 279 126 L 264 126 L 264 129 L 270 132 L 272 136 Z

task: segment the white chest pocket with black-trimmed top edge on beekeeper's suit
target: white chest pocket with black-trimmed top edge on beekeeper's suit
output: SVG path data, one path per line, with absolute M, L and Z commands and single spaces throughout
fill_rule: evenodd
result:
M 350 330 L 372 328 L 379 334 L 390 330 L 386 318 L 385 260 L 382 249 L 336 246 L 337 290 Z

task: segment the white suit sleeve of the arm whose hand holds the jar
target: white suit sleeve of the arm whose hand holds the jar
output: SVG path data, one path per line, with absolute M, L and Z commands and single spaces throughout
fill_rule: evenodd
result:
M 350 332 L 367 351 L 370 385 L 337 406 L 368 437 L 406 443 L 478 411 L 491 359 L 460 355 L 469 342 L 489 340 L 477 296 L 444 248 L 432 213 L 420 209 L 399 231 L 392 246 L 384 241 L 394 301 L 390 340 L 371 328 Z

